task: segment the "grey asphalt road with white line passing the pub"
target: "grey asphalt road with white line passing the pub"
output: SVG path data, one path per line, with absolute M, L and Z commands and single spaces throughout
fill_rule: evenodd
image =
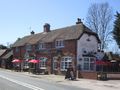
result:
M 0 90 L 87 90 L 0 69 Z

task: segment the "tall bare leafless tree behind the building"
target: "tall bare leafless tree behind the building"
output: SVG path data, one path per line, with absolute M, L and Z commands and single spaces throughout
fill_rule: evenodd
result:
M 106 48 L 107 42 L 110 40 L 110 23 L 112 20 L 112 9 L 108 3 L 91 4 L 87 14 L 88 27 L 96 32 L 101 40 L 100 49 Z

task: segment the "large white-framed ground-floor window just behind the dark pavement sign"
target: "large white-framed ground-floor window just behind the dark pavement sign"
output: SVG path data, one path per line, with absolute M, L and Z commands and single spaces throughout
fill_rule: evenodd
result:
M 72 64 L 71 57 L 63 57 L 61 60 L 61 71 L 67 71 L 67 68 Z

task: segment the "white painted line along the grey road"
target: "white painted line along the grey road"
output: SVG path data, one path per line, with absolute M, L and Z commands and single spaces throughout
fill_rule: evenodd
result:
M 9 80 L 9 81 L 11 81 L 11 82 L 17 83 L 17 84 L 19 84 L 19 85 L 22 85 L 22 86 L 24 86 L 24 87 L 30 88 L 30 89 L 32 89 L 32 90 L 45 90 L 45 89 L 36 87 L 36 86 L 34 86 L 34 85 L 31 85 L 31 84 L 28 84 L 28 83 L 25 83 L 25 82 L 21 82 L 21 81 L 18 81 L 18 80 L 14 80 L 14 79 L 11 79 L 11 78 L 8 78 L 8 77 L 5 77 L 5 76 L 1 76 L 1 75 L 0 75 L 0 77 L 3 78 L 3 79 L 7 79 L 7 80 Z

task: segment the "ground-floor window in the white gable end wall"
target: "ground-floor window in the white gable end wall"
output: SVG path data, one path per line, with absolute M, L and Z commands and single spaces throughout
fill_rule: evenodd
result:
M 84 58 L 83 69 L 84 70 L 91 70 L 91 71 L 93 71 L 94 67 L 95 67 L 94 58 L 92 58 L 92 57 L 85 57 Z

